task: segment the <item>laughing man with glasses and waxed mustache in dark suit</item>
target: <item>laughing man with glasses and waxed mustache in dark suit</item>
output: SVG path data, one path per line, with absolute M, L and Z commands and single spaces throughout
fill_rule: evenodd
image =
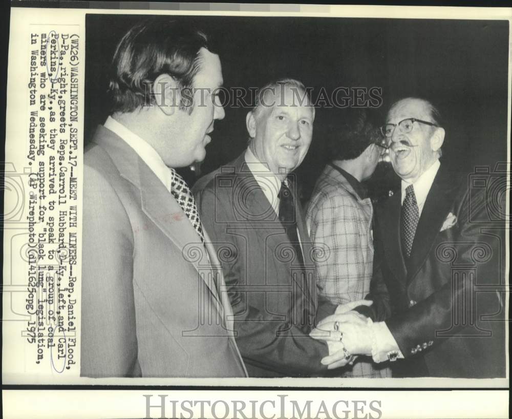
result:
M 374 304 L 359 309 L 373 321 L 332 316 L 313 335 L 391 361 L 393 376 L 504 377 L 505 213 L 491 217 L 488 188 L 440 162 L 445 131 L 430 102 L 399 100 L 382 133 L 401 191 L 377 209 Z M 345 355 L 324 362 L 335 366 Z

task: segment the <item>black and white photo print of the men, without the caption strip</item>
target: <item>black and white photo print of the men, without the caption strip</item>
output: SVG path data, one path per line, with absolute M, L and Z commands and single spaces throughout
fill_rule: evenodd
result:
M 507 21 L 86 31 L 81 375 L 505 376 Z

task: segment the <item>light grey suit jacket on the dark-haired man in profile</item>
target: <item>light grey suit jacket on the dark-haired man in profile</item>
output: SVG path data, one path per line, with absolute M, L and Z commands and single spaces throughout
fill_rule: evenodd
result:
M 245 376 L 215 250 L 102 126 L 84 153 L 83 208 L 81 375 Z

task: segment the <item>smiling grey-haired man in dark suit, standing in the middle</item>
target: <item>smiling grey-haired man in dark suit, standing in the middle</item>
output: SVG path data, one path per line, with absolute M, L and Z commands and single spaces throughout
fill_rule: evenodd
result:
M 341 346 L 308 336 L 315 317 L 349 311 L 318 300 L 304 215 L 291 175 L 312 139 L 315 111 L 301 82 L 262 88 L 247 114 L 249 146 L 194 185 L 215 240 L 250 376 L 310 376 Z M 318 313 L 317 313 L 318 312 Z M 357 313 L 343 316 L 361 321 Z

